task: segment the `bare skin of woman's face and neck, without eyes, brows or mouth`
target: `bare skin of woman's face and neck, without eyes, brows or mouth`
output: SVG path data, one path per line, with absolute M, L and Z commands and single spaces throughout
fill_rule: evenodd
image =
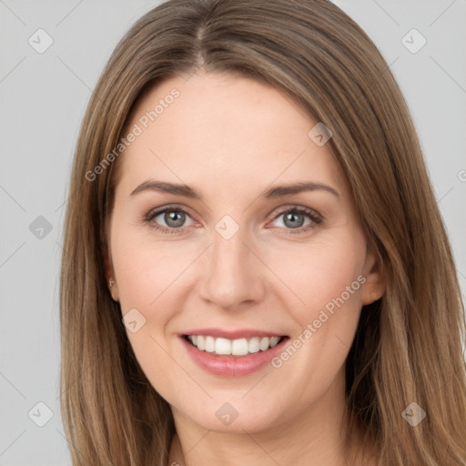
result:
M 180 95 L 119 161 L 106 260 L 122 315 L 136 308 L 146 319 L 127 337 L 173 412 L 169 464 L 346 464 L 344 364 L 361 307 L 384 292 L 349 186 L 329 144 L 318 147 L 308 137 L 317 122 L 289 96 L 248 78 L 200 71 L 172 78 L 138 103 L 129 127 L 173 88 Z M 130 195 L 149 178 L 196 187 L 203 200 L 155 190 Z M 325 184 L 339 196 L 320 189 L 261 197 L 268 187 L 297 181 Z M 151 227 L 169 228 L 163 214 L 144 221 L 169 204 L 188 211 L 181 234 Z M 280 213 L 295 207 L 323 220 L 289 233 Z M 239 227 L 229 239 L 215 229 L 225 215 Z M 293 340 L 359 276 L 366 279 L 360 289 L 279 369 L 215 376 L 187 356 L 177 336 L 216 327 Z M 229 426 L 216 416 L 225 402 L 238 411 Z

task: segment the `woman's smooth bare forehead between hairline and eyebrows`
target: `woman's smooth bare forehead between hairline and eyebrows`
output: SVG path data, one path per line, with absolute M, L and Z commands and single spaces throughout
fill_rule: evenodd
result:
M 312 179 L 341 190 L 329 145 L 308 136 L 316 123 L 288 95 L 249 78 L 174 77 L 152 88 L 132 113 L 127 128 L 139 134 L 124 151 L 121 184 L 130 190 L 156 177 L 215 195 Z

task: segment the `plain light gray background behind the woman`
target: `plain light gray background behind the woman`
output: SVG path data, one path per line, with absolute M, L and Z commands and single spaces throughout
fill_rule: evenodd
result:
M 106 59 L 158 3 L 0 0 L 0 466 L 69 464 L 58 399 L 66 185 Z M 335 3 L 379 46 L 408 100 L 464 290 L 466 1 Z M 53 39 L 42 54 L 28 43 L 46 45 L 39 28 Z M 416 53 L 412 28 L 427 40 Z

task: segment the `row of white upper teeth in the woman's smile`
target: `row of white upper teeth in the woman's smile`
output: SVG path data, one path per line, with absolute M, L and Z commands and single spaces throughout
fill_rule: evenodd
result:
M 189 335 L 191 343 L 201 351 L 218 355 L 245 356 L 248 353 L 266 351 L 279 344 L 280 337 L 253 337 L 251 339 L 223 339 L 203 335 Z

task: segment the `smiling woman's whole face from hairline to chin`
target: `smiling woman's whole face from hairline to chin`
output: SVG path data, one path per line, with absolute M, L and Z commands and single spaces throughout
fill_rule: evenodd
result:
M 214 431 L 335 407 L 381 290 L 329 135 L 226 74 L 170 79 L 132 116 L 107 269 L 147 379 L 177 420 Z

